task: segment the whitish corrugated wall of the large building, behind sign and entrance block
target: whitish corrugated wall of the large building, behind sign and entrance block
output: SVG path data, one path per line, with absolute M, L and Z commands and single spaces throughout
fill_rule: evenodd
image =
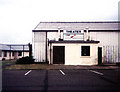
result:
M 44 37 L 42 34 L 45 34 Z M 33 32 L 33 55 L 36 61 L 45 62 L 49 61 L 49 43 L 48 40 L 58 39 L 57 32 Z M 89 32 L 90 40 L 100 41 L 98 46 L 102 47 L 102 61 L 103 63 L 116 63 L 119 61 L 120 52 L 118 47 L 118 31 L 95 31 Z M 46 37 L 47 36 L 47 37 Z M 39 41 L 40 39 L 44 41 Z M 61 38 L 63 38 L 63 32 L 61 32 Z M 84 39 L 86 40 L 86 32 L 84 33 Z M 47 45 L 47 47 L 46 47 Z M 47 48 L 47 49 L 46 49 Z M 46 58 L 47 56 L 47 58 Z

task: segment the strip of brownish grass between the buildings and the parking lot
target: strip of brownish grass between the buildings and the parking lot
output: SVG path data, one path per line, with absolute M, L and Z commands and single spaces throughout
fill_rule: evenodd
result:
M 80 65 L 50 65 L 50 64 L 16 64 L 16 61 L 2 61 L 3 69 L 116 69 L 117 66 L 80 66 Z M 1 64 L 1 62 L 0 62 Z M 120 67 L 119 67 L 120 68 Z

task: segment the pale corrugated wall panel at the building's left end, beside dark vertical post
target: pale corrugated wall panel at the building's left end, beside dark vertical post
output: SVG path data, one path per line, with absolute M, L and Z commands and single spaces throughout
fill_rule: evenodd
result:
M 33 55 L 36 62 L 46 62 L 46 32 L 34 32 Z

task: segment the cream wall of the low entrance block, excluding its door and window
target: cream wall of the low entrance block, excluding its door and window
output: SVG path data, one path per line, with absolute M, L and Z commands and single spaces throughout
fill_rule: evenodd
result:
M 50 63 L 53 64 L 53 46 L 65 46 L 65 65 L 97 65 L 98 44 L 52 43 Z M 81 56 L 81 46 L 90 46 L 90 56 Z

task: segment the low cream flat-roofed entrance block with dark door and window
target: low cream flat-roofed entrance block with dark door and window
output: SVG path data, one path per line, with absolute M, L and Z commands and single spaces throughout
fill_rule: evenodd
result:
M 50 64 L 97 65 L 99 41 L 50 41 Z

